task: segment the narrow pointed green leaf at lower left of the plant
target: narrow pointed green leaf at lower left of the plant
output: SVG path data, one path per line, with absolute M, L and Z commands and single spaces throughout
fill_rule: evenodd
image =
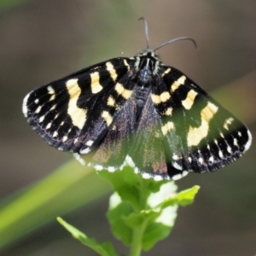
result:
M 72 236 L 82 242 L 85 246 L 90 247 L 96 253 L 99 253 L 102 256 L 117 256 L 113 245 L 110 242 L 100 243 L 96 241 L 95 238 L 89 238 L 83 232 L 73 227 L 71 224 L 68 224 L 62 218 L 57 218 L 58 222 L 69 231 Z

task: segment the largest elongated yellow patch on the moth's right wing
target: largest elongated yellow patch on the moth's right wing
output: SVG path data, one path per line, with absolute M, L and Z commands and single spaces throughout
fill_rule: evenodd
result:
M 208 102 L 207 107 L 201 110 L 201 125 L 199 127 L 189 127 L 187 137 L 189 146 L 197 146 L 204 137 L 207 137 L 209 123 L 217 111 L 218 107 L 211 102 Z

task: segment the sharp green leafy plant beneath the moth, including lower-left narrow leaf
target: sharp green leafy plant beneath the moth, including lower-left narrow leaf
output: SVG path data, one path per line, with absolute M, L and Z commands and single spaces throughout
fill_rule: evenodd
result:
M 130 167 L 122 172 L 99 172 L 99 175 L 112 184 L 114 193 L 110 197 L 107 213 L 113 235 L 131 247 L 130 256 L 148 251 L 172 231 L 177 217 L 177 207 L 187 206 L 194 201 L 199 189 L 177 193 L 172 181 L 146 180 L 135 174 Z M 85 246 L 102 256 L 116 256 L 110 242 L 100 243 L 67 224 L 62 218 L 58 221 Z

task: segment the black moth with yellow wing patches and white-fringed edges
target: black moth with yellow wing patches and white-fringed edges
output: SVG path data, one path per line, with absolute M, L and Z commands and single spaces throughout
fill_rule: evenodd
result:
M 129 165 L 155 180 L 212 172 L 240 158 L 252 142 L 246 125 L 152 49 L 32 90 L 23 113 L 49 145 L 81 162 L 80 155 L 91 152 L 87 164 L 96 170 Z

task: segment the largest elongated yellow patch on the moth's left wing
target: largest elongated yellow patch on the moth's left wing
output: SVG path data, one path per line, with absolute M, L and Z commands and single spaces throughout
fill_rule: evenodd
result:
M 82 129 L 84 127 L 86 121 L 86 110 L 83 108 L 79 108 L 77 102 L 79 100 L 79 96 L 81 94 L 81 89 L 78 84 L 78 79 L 69 79 L 66 82 L 67 92 L 70 96 L 67 113 L 72 119 L 73 125 Z

